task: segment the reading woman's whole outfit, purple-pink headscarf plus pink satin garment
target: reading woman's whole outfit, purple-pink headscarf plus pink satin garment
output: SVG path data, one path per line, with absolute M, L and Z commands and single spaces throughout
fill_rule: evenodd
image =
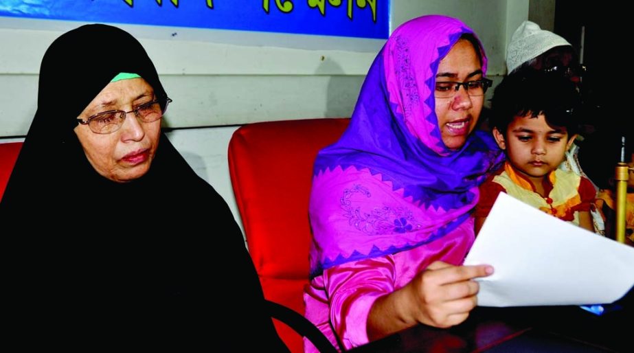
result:
M 435 76 L 462 36 L 477 41 L 462 21 L 440 15 L 398 27 L 367 73 L 346 132 L 315 159 L 306 317 L 344 348 L 367 343 L 376 298 L 435 260 L 460 264 L 473 243 L 478 186 L 503 154 L 484 131 L 455 150 L 442 142 Z

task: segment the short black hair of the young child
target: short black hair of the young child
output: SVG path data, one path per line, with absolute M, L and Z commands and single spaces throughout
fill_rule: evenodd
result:
M 495 87 L 490 127 L 506 135 L 514 117 L 545 115 L 546 123 L 578 133 L 581 100 L 575 84 L 556 73 L 522 71 L 506 76 Z

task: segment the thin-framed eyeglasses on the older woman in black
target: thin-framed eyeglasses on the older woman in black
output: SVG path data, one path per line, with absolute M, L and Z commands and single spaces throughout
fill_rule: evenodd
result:
M 141 104 L 131 111 L 103 111 L 85 121 L 82 119 L 77 119 L 77 121 L 82 125 L 88 125 L 95 134 L 114 133 L 121 128 L 128 113 L 134 113 L 141 122 L 155 122 L 163 117 L 168 109 L 168 104 L 171 102 L 170 98 L 166 98 L 164 101 L 152 100 L 152 102 Z

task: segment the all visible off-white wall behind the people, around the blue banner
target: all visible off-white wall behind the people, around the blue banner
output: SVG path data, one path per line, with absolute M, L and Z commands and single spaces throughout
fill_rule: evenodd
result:
M 554 4 L 540 0 L 534 8 L 554 8 L 549 2 Z M 457 16 L 481 38 L 488 76 L 499 82 L 506 73 L 506 44 L 528 12 L 528 0 L 392 0 L 391 28 L 422 14 Z M 0 142 L 26 134 L 36 109 L 41 58 L 55 38 L 81 24 L 0 17 Z M 385 43 L 118 26 L 139 38 L 174 99 L 165 124 L 186 129 L 168 133 L 170 140 L 227 200 L 238 222 L 227 166 L 231 133 L 249 122 L 350 116 L 365 73 Z

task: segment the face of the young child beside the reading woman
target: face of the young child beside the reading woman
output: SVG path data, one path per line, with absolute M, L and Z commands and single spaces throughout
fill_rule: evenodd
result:
M 541 183 L 551 170 L 556 169 L 574 139 L 565 128 L 553 128 L 546 124 L 544 115 L 515 116 L 508 125 L 506 136 L 497 129 L 493 136 L 498 146 L 506 150 L 512 166 L 533 183 Z

